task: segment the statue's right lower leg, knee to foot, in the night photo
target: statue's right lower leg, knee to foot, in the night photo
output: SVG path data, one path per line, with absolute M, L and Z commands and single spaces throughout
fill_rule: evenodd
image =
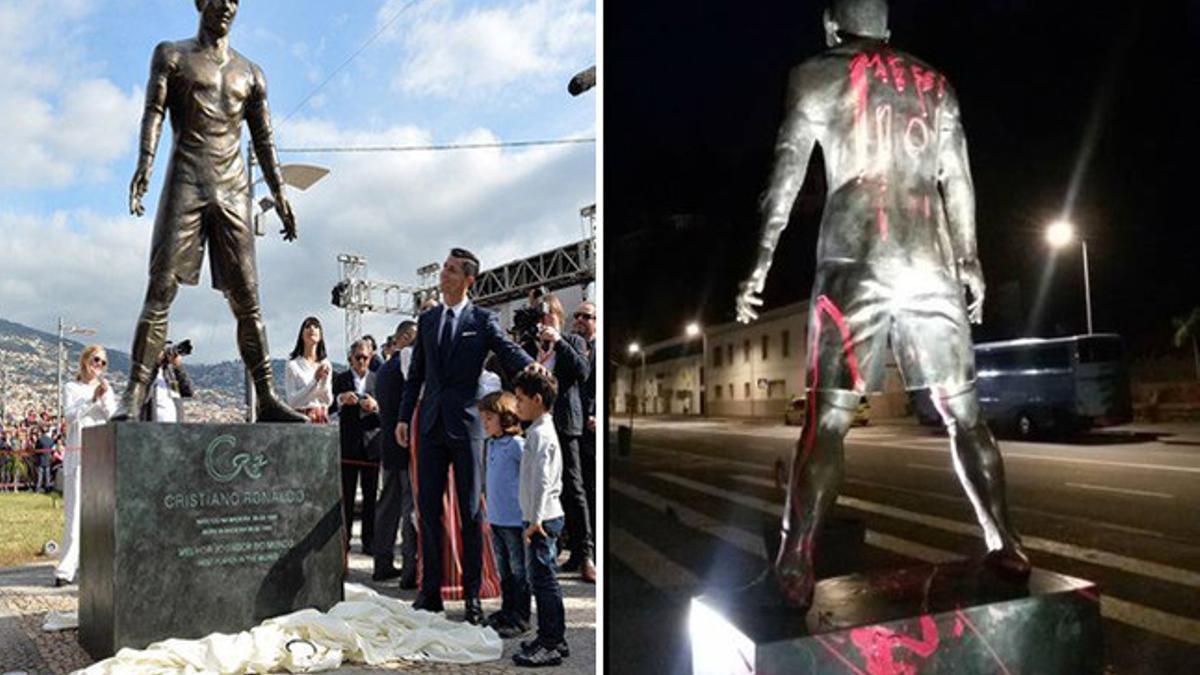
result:
M 1008 516 L 1004 460 L 979 411 L 974 386 L 954 393 L 931 387 L 930 398 L 950 436 L 954 471 L 983 527 L 989 565 L 1013 577 L 1027 577 L 1030 558 Z

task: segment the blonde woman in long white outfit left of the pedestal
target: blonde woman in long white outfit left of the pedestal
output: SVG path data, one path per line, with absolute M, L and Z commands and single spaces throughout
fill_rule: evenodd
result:
M 62 555 L 54 571 L 54 585 L 73 584 L 79 569 L 79 485 L 83 430 L 103 424 L 116 411 L 116 396 L 104 378 L 108 354 L 100 345 L 89 345 L 79 356 L 79 371 L 62 392 L 62 417 L 67 423 L 67 448 L 62 456 Z

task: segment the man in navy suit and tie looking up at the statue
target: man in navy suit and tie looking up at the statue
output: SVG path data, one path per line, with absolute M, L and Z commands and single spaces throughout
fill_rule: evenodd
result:
M 467 621 L 482 623 L 479 604 L 482 572 L 480 449 L 472 443 L 479 424 L 475 392 L 484 360 L 496 353 L 509 372 L 536 364 L 500 328 L 496 313 L 470 303 L 467 291 L 479 275 L 479 258 L 452 249 L 442 265 L 442 304 L 418 319 L 413 363 L 396 424 L 396 442 L 408 447 L 408 430 L 420 399 L 416 449 L 416 504 L 421 513 L 421 590 L 413 607 L 442 611 L 442 496 L 454 466 L 462 522 L 462 584 Z M 421 388 L 424 387 L 424 393 Z

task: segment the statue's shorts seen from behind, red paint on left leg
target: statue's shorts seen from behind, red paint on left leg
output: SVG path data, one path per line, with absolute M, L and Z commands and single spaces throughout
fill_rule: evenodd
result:
M 974 382 L 962 285 L 946 270 L 821 263 L 809 310 L 808 387 L 883 389 L 888 342 L 905 388 Z

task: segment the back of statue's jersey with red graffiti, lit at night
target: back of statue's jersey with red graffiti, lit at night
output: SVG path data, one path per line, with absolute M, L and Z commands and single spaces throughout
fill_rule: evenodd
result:
M 809 123 L 824 154 L 818 263 L 952 269 L 937 181 L 961 127 L 946 77 L 863 41 L 805 61 L 792 78 L 800 95 L 787 113 Z

